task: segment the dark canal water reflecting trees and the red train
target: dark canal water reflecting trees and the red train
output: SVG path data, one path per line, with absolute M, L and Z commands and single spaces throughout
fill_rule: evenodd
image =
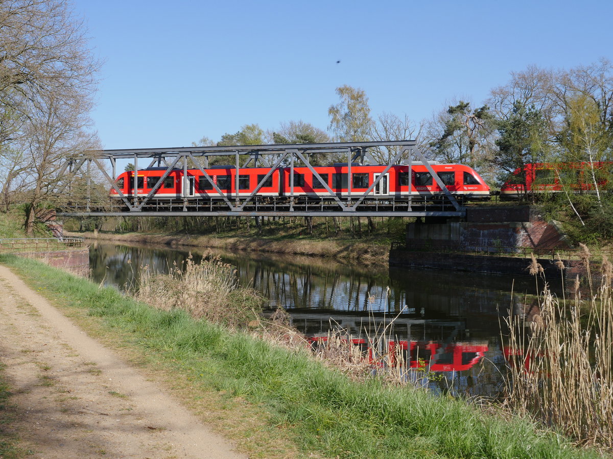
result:
M 201 253 L 192 252 L 195 258 Z M 90 248 L 94 282 L 137 285 L 139 267 L 167 272 L 189 255 L 168 247 L 96 242 Z M 496 397 L 506 375 L 504 319 L 509 311 L 538 311 L 535 279 L 431 269 L 335 263 L 329 259 L 215 252 L 237 268 L 240 283 L 282 307 L 294 326 L 321 341 L 345 330 L 364 348 L 375 336 L 380 352 L 399 349 L 411 366 L 425 363 L 436 392 Z M 441 255 L 444 256 L 444 255 Z M 554 289 L 556 286 L 554 285 Z

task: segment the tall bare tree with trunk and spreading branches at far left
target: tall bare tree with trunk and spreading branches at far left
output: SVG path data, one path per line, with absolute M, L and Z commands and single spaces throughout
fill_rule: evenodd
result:
M 28 234 L 61 166 L 94 146 L 87 113 L 101 61 L 86 32 L 67 1 L 0 2 L 0 180 L 6 201 L 27 191 Z

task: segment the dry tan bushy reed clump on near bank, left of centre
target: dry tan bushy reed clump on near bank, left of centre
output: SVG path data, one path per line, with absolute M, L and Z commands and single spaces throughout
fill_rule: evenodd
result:
M 194 318 L 231 328 L 244 327 L 261 315 L 262 297 L 253 289 L 239 288 L 231 264 L 219 257 L 203 257 L 196 263 L 189 255 L 181 265 L 173 266 L 169 274 L 143 267 L 134 296 L 160 309 L 182 309 Z

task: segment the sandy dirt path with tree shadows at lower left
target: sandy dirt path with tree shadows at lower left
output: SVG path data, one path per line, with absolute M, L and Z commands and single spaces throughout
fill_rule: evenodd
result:
M 0 362 L 30 457 L 245 457 L 4 266 Z

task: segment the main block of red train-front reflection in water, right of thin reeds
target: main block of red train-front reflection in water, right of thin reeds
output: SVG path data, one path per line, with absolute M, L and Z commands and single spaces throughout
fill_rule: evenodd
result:
M 402 356 L 411 368 L 427 368 L 430 371 L 462 371 L 481 362 L 488 346 L 486 344 L 451 343 L 441 345 L 432 341 L 390 341 L 392 359 Z M 401 362 L 398 362 L 401 363 Z

